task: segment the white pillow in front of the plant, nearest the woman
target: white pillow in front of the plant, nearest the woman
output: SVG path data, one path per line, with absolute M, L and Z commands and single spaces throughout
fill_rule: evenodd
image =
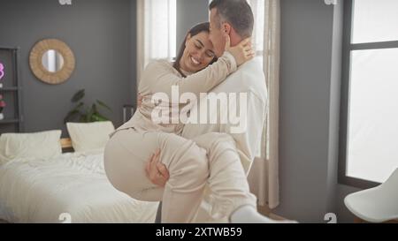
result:
M 66 123 L 72 146 L 76 152 L 86 152 L 104 148 L 110 139 L 109 135 L 115 131 L 110 121 L 94 123 Z

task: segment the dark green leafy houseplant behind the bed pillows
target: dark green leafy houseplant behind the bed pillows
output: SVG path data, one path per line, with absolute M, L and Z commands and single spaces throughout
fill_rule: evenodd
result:
M 91 107 L 86 108 L 84 102 L 81 100 L 86 95 L 85 90 L 81 89 L 76 94 L 73 95 L 72 102 L 77 104 L 75 108 L 73 108 L 64 118 L 64 123 L 78 121 L 80 123 L 90 123 L 90 122 L 97 122 L 97 121 L 109 121 L 108 117 L 104 117 L 98 111 L 98 107 L 102 107 L 109 111 L 112 111 L 108 105 L 105 103 L 96 100 L 95 103 L 91 105 Z

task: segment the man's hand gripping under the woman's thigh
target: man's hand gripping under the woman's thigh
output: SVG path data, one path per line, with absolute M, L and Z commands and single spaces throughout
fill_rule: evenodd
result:
M 150 159 L 145 166 L 145 172 L 152 184 L 165 187 L 170 175 L 165 164 L 160 162 L 160 150 L 157 150 L 155 154 L 150 156 Z

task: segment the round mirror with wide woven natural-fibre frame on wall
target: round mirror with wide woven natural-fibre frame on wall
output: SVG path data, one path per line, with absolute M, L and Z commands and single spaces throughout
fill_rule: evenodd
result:
M 34 45 L 30 52 L 29 64 L 37 79 L 57 85 L 71 77 L 75 59 L 72 49 L 64 41 L 47 39 Z

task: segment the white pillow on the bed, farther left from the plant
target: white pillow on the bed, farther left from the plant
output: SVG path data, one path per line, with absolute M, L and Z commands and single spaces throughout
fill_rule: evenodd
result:
M 61 131 L 4 133 L 0 136 L 0 163 L 13 159 L 49 159 L 62 154 Z

